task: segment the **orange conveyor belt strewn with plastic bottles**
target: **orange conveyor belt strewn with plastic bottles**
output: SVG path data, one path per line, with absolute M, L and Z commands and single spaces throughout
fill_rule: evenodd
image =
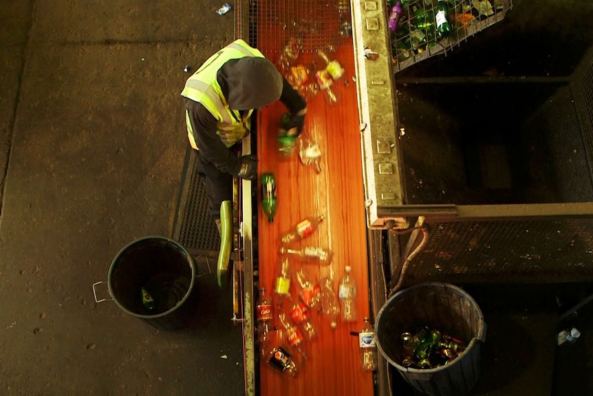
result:
M 260 50 L 266 54 L 265 48 Z M 266 56 L 273 59 L 273 55 Z M 314 167 L 303 165 L 298 152 L 291 158 L 283 158 L 278 152 L 276 136 L 281 114 L 286 111 L 284 105 L 275 103 L 259 112 L 259 174 L 274 173 L 279 202 L 274 222 L 270 223 L 261 209 L 259 191 L 259 282 L 267 291 L 272 291 L 279 271 L 281 234 L 303 218 L 324 213 L 325 221 L 300 245 L 329 247 L 334 251 L 334 260 L 329 267 L 302 264 L 303 269 L 312 280 L 332 277 L 337 293 L 345 266 L 351 266 L 358 288 L 358 320 L 338 321 L 337 328 L 331 329 L 330 320 L 314 311 L 312 321 L 320 335 L 309 342 L 308 358 L 303 362 L 299 357 L 299 375 L 290 377 L 261 362 L 262 396 L 366 396 L 374 393 L 373 375 L 360 368 L 358 337 L 350 335 L 350 331 L 359 331 L 363 318 L 369 316 L 365 196 L 352 40 L 341 43 L 332 56 L 345 68 L 344 76 L 334 83 L 341 101 L 332 106 L 325 101 L 323 92 L 310 99 L 302 135 L 315 140 L 321 148 L 321 174 L 316 174 Z M 292 260 L 290 266 L 294 271 L 301 263 Z M 291 294 L 298 298 L 294 281 Z M 277 322 L 276 315 L 274 320 Z

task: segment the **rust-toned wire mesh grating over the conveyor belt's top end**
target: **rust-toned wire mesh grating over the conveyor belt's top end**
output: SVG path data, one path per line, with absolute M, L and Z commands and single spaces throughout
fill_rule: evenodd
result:
M 352 34 L 348 0 L 252 0 L 248 10 L 245 3 L 239 8 L 237 33 L 268 55 L 280 54 L 291 40 L 298 41 L 304 53 L 331 52 Z

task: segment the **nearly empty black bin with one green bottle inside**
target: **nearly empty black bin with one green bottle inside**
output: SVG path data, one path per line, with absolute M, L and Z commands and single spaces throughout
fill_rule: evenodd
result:
M 175 330 L 191 315 L 195 263 L 182 245 L 162 236 L 147 236 L 123 247 L 111 262 L 109 293 L 118 306 L 156 329 Z M 155 302 L 142 303 L 142 288 Z

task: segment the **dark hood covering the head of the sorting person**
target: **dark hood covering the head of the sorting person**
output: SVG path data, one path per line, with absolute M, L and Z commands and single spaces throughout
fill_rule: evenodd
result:
M 231 110 L 251 110 L 270 105 L 282 94 L 283 79 L 267 58 L 248 56 L 224 65 Z

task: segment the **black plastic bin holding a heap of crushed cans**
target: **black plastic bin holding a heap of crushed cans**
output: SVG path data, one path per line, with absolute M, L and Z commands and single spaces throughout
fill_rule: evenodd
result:
M 466 340 L 466 350 L 445 366 L 402 366 L 400 335 L 423 325 Z M 398 291 L 380 309 L 375 329 L 380 353 L 416 390 L 431 396 L 460 396 L 475 386 L 486 324 L 473 298 L 457 286 L 428 282 Z

